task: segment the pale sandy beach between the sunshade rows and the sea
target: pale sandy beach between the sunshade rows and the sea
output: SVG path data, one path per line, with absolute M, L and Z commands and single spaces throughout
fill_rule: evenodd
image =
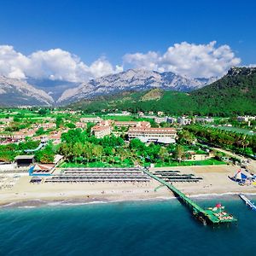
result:
M 153 168 L 150 171 L 173 170 L 195 174 L 203 179 L 199 183 L 173 183 L 184 194 L 223 195 L 256 193 L 253 185 L 240 186 L 230 180 L 237 166 L 181 166 Z M 22 176 L 12 189 L 0 191 L 0 205 L 34 201 L 138 201 L 167 200 L 172 192 L 155 180 L 148 183 L 39 183 L 32 184 L 31 177 Z

